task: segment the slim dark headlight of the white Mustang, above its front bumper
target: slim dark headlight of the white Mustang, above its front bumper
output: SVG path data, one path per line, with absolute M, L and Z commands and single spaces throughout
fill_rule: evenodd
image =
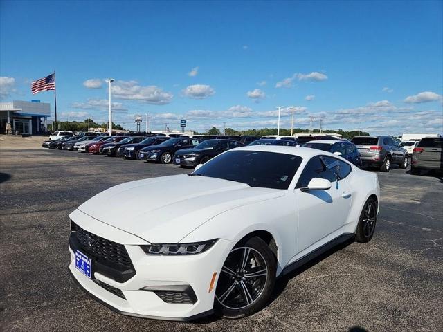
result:
M 197 243 L 150 244 L 141 246 L 147 255 L 195 255 L 208 250 L 218 239 Z

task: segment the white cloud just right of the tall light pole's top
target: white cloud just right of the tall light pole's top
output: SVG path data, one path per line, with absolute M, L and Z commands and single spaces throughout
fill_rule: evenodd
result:
M 138 100 L 149 104 L 164 105 L 172 100 L 172 93 L 163 91 L 159 86 L 141 86 L 137 81 L 116 81 L 111 86 L 114 98 Z

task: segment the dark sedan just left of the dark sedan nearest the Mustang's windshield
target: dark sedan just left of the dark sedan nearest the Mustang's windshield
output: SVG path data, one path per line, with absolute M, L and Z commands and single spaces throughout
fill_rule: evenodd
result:
M 198 144 L 199 141 L 195 138 L 171 138 L 161 143 L 161 145 L 144 147 L 138 152 L 138 159 L 170 164 L 175 152 L 179 149 L 192 149 Z

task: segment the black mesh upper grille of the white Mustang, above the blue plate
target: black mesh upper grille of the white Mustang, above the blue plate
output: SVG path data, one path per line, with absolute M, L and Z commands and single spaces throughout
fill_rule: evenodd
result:
M 131 259 L 127 254 L 125 246 L 114 241 L 103 239 L 96 234 L 92 234 L 87 230 L 84 230 L 79 225 L 76 225 L 71 221 L 71 230 L 75 232 L 75 235 L 84 248 L 84 250 L 97 257 L 103 259 L 111 264 L 117 264 L 124 269 L 132 269 Z M 121 268 L 120 268 L 121 270 Z

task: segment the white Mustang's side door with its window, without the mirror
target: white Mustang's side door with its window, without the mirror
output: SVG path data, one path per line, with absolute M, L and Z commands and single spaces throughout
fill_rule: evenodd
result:
M 336 169 L 327 166 L 338 162 L 343 178 L 336 180 Z M 300 257 L 338 237 L 350 211 L 352 192 L 347 183 L 350 165 L 329 156 L 315 156 L 302 171 L 295 190 L 298 206 L 297 252 Z M 347 174 L 346 174 L 347 172 Z M 328 190 L 303 192 L 312 178 L 326 178 L 331 181 Z

